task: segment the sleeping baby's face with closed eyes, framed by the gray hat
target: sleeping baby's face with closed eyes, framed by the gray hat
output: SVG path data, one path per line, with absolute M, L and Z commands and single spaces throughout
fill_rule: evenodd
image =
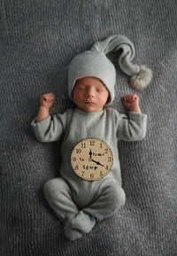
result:
M 92 76 L 83 77 L 75 82 L 73 101 L 75 105 L 87 112 L 103 110 L 109 97 L 104 83 Z

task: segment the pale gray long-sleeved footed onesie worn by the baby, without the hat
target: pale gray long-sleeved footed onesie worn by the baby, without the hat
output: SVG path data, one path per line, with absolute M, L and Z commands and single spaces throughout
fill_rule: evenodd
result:
M 61 177 L 45 183 L 44 194 L 58 218 L 65 223 L 65 237 L 71 240 L 88 233 L 96 221 L 115 213 L 125 204 L 121 188 L 118 142 L 141 140 L 146 133 L 147 115 L 129 112 L 129 117 L 113 108 L 101 112 L 68 109 L 63 114 L 32 122 L 35 136 L 41 142 L 58 141 L 61 147 Z M 95 182 L 82 180 L 73 172 L 71 153 L 76 144 L 89 137 L 103 140 L 113 153 L 111 172 Z

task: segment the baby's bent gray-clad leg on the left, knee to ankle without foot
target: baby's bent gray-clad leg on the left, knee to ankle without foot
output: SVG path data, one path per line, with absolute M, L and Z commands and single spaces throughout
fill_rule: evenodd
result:
M 79 212 L 73 203 L 71 190 L 64 179 L 52 179 L 44 184 L 43 192 L 49 205 L 62 222 L 72 220 Z

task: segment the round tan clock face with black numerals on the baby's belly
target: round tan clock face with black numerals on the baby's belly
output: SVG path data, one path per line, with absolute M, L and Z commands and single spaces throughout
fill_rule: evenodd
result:
M 112 169 L 112 150 L 99 139 L 84 139 L 73 148 L 71 164 L 75 174 L 82 179 L 97 181 Z

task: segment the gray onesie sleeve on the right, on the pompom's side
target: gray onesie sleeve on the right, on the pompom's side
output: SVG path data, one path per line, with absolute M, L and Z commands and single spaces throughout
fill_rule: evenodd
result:
M 129 112 L 119 114 L 117 119 L 117 136 L 125 141 L 139 141 L 146 135 L 147 115 L 144 113 Z

